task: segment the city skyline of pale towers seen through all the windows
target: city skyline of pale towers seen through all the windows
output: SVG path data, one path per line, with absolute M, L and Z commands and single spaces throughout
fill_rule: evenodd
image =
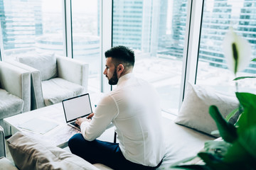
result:
M 5 3 L 4 3 L 5 2 Z M 97 1 L 98 2 L 98 1 Z M 163 109 L 177 110 L 181 87 L 183 67 L 183 48 L 187 20 L 186 0 L 122 0 L 113 1 L 112 45 L 126 45 L 136 52 L 137 61 L 135 73 L 156 86 L 161 94 Z M 240 1 L 241 2 L 241 1 Z M 197 82 L 208 84 L 216 89 L 227 91 L 230 81 L 225 58 L 221 50 L 222 40 L 232 21 L 235 21 L 235 31 L 249 38 L 251 45 L 256 26 L 253 19 L 256 11 L 252 11 L 255 1 L 243 1 L 233 6 L 235 1 L 208 0 L 203 11 L 200 49 L 198 52 Z M 48 1 L 49 3 L 49 1 Z M 94 14 L 84 10 L 80 1 L 73 1 L 73 58 L 90 64 L 89 86 L 100 89 L 100 9 L 95 4 Z M 208 4 L 209 3 L 209 4 Z M 246 4 L 247 3 L 247 4 Z M 253 3 L 253 4 L 250 4 Z M 8 4 L 8 5 L 7 5 Z M 14 5 L 13 5 L 14 4 Z M 23 52 L 55 52 L 63 54 L 65 28 L 63 27 L 63 12 L 60 1 L 50 8 L 38 0 L 0 0 L 1 30 L 4 40 L 5 57 L 18 57 Z M 97 4 L 97 5 L 96 5 Z M 22 15 L 19 15 L 21 6 Z M 53 7 L 54 6 L 54 7 Z M 210 7 L 208 7 L 210 6 Z M 78 10 L 76 9 L 78 8 Z M 240 13 L 240 15 L 238 15 Z M 233 18 L 232 18 L 233 17 Z M 254 25 L 255 24 L 255 25 Z M 171 29 L 170 29 L 171 26 Z M 249 30 L 249 31 L 248 31 Z M 255 54 L 256 55 L 256 54 Z M 255 73 L 255 62 L 250 64 L 247 72 Z M 243 84 L 247 89 L 253 89 L 253 84 Z M 244 89 L 246 89 L 244 88 Z

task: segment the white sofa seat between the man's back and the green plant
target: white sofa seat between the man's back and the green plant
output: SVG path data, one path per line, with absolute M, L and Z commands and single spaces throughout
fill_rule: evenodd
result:
M 164 142 L 166 154 L 158 169 L 169 169 L 171 164 L 193 157 L 204 147 L 204 142 L 215 140 L 215 137 L 197 130 L 174 123 L 164 118 Z

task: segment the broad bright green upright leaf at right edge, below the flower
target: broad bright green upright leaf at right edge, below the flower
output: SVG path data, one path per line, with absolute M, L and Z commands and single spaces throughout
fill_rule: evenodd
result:
M 256 95 L 249 93 L 235 93 L 243 107 L 243 113 L 238 120 L 238 134 L 256 125 Z

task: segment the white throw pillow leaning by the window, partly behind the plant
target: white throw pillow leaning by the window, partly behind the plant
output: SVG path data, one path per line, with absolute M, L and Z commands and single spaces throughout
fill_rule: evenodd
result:
M 218 130 L 215 121 L 210 117 L 209 107 L 215 105 L 225 118 L 228 113 L 238 108 L 238 99 L 227 96 L 213 89 L 188 83 L 186 95 L 175 123 L 210 134 Z M 219 137 L 219 135 L 213 135 Z

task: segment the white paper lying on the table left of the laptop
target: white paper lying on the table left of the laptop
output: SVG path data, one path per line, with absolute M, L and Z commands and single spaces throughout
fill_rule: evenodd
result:
M 58 123 L 52 122 L 50 120 L 32 118 L 31 120 L 28 120 L 25 123 L 18 125 L 18 128 L 29 130 L 31 132 L 45 134 L 56 126 L 58 126 Z

